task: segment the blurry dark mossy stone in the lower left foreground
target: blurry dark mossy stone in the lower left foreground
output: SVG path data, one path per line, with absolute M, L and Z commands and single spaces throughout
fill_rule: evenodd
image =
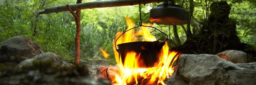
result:
M 111 85 L 105 79 L 94 79 L 85 65 L 70 68 L 12 69 L 0 71 L 0 85 Z

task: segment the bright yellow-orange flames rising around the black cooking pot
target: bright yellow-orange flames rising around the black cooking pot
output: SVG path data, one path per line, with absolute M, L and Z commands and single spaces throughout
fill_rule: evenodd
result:
M 134 22 L 129 17 L 125 17 L 125 19 L 128 24 L 128 28 L 126 30 L 133 28 Z M 143 26 L 152 26 L 152 24 L 143 23 Z M 116 39 L 121 34 L 122 31 L 117 32 Z M 140 27 L 139 31 L 132 29 L 126 32 L 119 38 L 119 40 L 116 41 L 116 45 L 125 42 L 138 41 L 139 38 L 137 38 L 137 36 L 142 36 L 143 41 L 156 41 L 156 38 L 150 34 L 147 27 Z M 140 54 L 137 54 L 134 51 L 127 52 L 125 54 L 124 63 L 122 63 L 121 57 L 119 57 L 115 48 L 115 41 L 113 41 L 113 48 L 116 62 L 119 64 L 121 70 L 119 75 L 115 75 L 115 80 L 112 81 L 113 85 L 127 85 L 128 83 L 131 84 L 131 82 L 139 84 L 142 79 L 148 79 L 147 82 L 143 82 L 145 85 L 165 85 L 163 81 L 173 74 L 174 68 L 172 65 L 180 55 L 175 51 L 169 51 L 169 46 L 166 42 L 160 51 L 159 63 L 155 64 L 152 68 L 139 68 L 139 65 L 144 64 L 139 60 Z

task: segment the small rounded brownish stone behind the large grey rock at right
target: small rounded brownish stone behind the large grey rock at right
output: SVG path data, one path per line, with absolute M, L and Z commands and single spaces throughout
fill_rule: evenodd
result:
M 226 50 L 221 53 L 216 54 L 222 59 L 234 62 L 234 63 L 246 63 L 247 62 L 247 54 L 243 51 L 237 50 Z

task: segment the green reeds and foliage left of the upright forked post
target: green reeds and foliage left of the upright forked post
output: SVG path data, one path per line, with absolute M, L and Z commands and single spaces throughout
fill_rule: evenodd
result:
M 43 3 L 45 1 L 45 3 Z M 9 37 L 23 35 L 41 44 L 44 51 L 57 53 L 67 59 L 74 50 L 74 25 L 69 13 L 44 14 L 36 22 L 36 11 L 41 8 L 65 3 L 55 0 L 6 0 L 0 5 L 0 42 Z M 44 4 L 44 5 L 43 5 Z M 43 7 L 42 7 L 43 6 Z M 34 28 L 37 34 L 32 36 Z M 73 46 L 73 47 L 72 47 Z

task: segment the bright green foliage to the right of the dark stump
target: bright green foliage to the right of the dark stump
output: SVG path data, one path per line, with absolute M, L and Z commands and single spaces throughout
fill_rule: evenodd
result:
M 236 30 L 241 42 L 256 46 L 256 6 L 248 1 L 231 5 L 230 17 L 236 20 Z

